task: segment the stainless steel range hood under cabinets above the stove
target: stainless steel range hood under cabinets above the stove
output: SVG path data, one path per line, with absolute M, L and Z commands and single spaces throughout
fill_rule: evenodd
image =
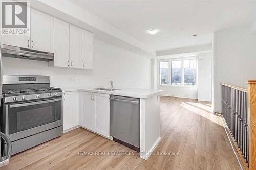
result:
M 53 53 L 0 44 L 2 57 L 23 58 L 29 60 L 52 61 Z

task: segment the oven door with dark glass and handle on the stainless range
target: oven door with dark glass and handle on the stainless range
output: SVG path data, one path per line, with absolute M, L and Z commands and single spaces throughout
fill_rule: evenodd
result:
M 11 141 L 62 126 L 62 98 L 5 105 L 5 133 Z

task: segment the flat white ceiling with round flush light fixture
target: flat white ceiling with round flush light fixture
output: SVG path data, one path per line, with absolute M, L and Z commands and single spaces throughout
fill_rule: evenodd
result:
M 256 19 L 256 1 L 70 1 L 156 51 L 210 43 L 215 31 Z

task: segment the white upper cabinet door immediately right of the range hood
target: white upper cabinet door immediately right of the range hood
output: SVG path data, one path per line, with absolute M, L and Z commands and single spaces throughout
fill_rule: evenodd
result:
M 54 66 L 69 67 L 69 23 L 54 18 Z

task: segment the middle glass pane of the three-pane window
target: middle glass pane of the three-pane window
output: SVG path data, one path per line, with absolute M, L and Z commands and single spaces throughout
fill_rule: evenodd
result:
M 172 84 L 181 84 L 181 61 L 172 61 Z

